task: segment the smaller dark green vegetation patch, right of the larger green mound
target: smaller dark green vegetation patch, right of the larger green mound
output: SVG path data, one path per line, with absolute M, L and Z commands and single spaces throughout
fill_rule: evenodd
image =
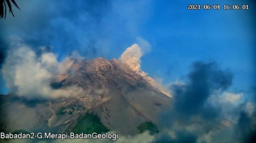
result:
M 149 121 L 140 123 L 137 129 L 139 130 L 140 133 L 143 133 L 148 130 L 149 134 L 151 135 L 154 135 L 159 132 L 158 128 L 156 127 L 156 124 Z

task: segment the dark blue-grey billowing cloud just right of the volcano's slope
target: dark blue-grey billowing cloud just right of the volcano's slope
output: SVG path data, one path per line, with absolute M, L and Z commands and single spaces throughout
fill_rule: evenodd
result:
M 174 85 L 174 110 L 183 117 L 200 113 L 205 117 L 216 116 L 215 109 L 205 105 L 215 91 L 224 91 L 232 84 L 232 73 L 220 70 L 215 62 L 194 62 L 185 85 Z

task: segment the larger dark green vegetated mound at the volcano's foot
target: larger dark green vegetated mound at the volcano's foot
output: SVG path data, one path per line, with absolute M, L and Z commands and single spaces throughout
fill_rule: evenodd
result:
M 109 129 L 100 122 L 100 118 L 93 113 L 86 113 L 85 116 L 78 120 L 71 130 L 71 132 L 74 132 L 75 134 L 80 134 L 82 132 L 84 134 L 92 134 L 93 132 L 100 134 L 108 131 Z

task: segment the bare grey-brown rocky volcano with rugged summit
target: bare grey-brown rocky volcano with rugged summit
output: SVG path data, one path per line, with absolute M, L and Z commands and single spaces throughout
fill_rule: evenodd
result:
M 116 59 L 76 61 L 71 73 L 58 75 L 51 83 L 53 89 L 70 86 L 80 87 L 83 92 L 44 100 L 12 93 L 0 96 L 1 131 L 72 131 L 81 123 L 89 123 L 81 120 L 90 113 L 107 130 L 137 134 L 142 123 L 158 125 L 158 114 L 169 108 L 172 100 Z

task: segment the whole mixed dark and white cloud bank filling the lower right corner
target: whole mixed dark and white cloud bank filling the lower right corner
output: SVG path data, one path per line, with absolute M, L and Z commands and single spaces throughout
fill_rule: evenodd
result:
M 155 143 L 251 143 L 256 137 L 255 102 L 228 91 L 233 75 L 214 61 L 196 61 L 188 81 L 172 84 L 171 111 L 162 113 L 165 132 Z M 254 91 L 255 92 L 255 91 Z M 255 94 L 255 93 L 251 93 Z

